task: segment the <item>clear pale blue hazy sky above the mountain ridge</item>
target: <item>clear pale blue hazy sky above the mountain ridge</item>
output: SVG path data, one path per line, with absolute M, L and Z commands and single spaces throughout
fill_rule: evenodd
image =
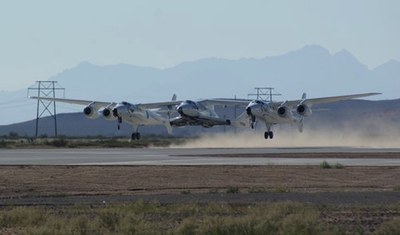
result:
M 398 0 L 0 0 L 0 90 L 82 61 L 165 68 L 208 57 L 349 50 L 373 68 L 400 60 Z

